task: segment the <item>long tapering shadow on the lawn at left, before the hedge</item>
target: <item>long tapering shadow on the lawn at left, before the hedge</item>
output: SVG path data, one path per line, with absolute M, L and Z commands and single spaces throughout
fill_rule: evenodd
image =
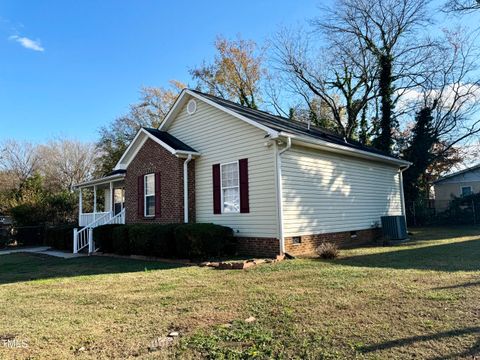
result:
M 183 266 L 102 256 L 62 259 L 42 254 L 17 253 L 0 256 L 0 285 L 60 277 L 168 270 Z

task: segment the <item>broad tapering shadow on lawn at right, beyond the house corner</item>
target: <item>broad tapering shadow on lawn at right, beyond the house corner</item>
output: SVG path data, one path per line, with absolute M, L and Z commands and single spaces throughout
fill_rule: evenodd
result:
M 336 261 L 347 266 L 436 271 L 480 270 L 480 240 L 392 249 L 389 252 L 351 256 Z

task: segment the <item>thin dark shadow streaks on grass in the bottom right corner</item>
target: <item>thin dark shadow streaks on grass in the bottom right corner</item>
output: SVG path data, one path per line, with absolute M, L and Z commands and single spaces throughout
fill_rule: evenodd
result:
M 412 337 L 403 338 L 403 339 L 386 341 L 379 344 L 366 345 L 361 348 L 361 352 L 370 353 L 374 351 L 388 350 L 394 347 L 410 346 L 420 341 L 435 341 L 435 340 L 441 340 L 448 337 L 459 337 L 459 336 L 470 335 L 470 334 L 476 334 L 476 335 L 480 334 L 480 327 L 474 326 L 474 327 L 468 327 L 463 329 L 454 329 L 454 330 L 438 332 L 434 334 L 417 335 L 417 336 L 412 336 Z M 477 341 L 473 345 L 473 347 L 471 347 L 470 349 L 464 352 L 444 354 L 439 357 L 434 357 L 433 359 L 466 358 L 470 356 L 479 355 L 479 353 L 480 353 L 480 341 Z

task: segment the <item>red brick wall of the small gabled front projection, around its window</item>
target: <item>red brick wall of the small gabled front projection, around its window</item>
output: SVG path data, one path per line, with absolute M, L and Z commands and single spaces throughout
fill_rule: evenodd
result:
M 129 164 L 125 175 L 126 223 L 171 224 L 183 222 L 183 163 L 168 150 L 148 139 Z M 138 176 L 151 173 L 161 176 L 161 215 L 154 218 L 138 216 Z M 188 164 L 189 218 L 195 221 L 195 160 Z M 143 201 L 143 199 L 142 199 Z

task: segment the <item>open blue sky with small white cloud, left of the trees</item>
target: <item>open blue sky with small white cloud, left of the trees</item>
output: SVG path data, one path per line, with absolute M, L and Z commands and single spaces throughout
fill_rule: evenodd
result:
M 264 41 L 319 1 L 0 2 L 0 141 L 95 140 L 142 85 L 189 81 L 217 34 Z M 30 41 L 31 40 L 31 41 Z

